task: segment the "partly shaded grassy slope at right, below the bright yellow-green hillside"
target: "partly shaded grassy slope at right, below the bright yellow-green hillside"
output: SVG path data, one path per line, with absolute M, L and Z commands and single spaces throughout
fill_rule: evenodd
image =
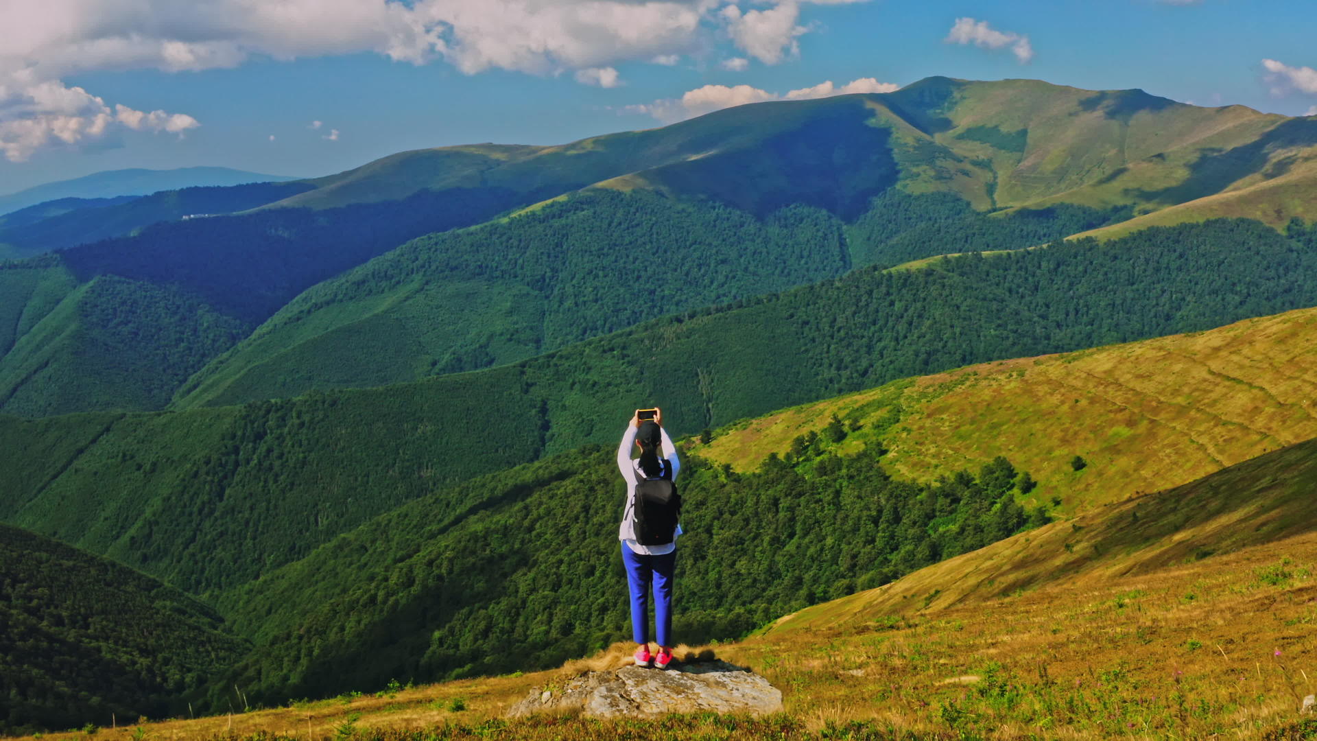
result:
M 814 630 L 942 609 L 1065 583 L 1097 587 L 1214 554 L 1312 533 L 1317 442 L 1225 468 L 1183 487 L 1131 496 L 786 617 L 774 632 Z M 1133 492 L 1131 492 L 1133 494 Z

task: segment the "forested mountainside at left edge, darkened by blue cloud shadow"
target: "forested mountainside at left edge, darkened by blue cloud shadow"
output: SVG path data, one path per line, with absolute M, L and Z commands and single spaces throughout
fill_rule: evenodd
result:
M 0 294 L 0 316 L 13 316 L 3 331 L 24 330 L 0 356 L 0 410 L 161 409 L 192 373 L 311 285 L 417 235 L 485 220 L 510 198 L 457 190 L 212 216 L 0 262 L 0 283 L 29 286 Z M 30 286 L 37 274 L 45 274 L 41 290 Z

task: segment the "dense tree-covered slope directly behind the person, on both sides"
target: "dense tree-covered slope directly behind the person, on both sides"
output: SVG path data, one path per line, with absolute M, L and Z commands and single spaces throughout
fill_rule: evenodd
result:
M 1015 502 L 1023 476 L 1005 459 L 918 485 L 872 452 L 838 456 L 847 431 L 834 421 L 757 473 L 686 460 L 680 641 L 739 636 L 1048 521 Z M 412 502 L 224 595 L 258 647 L 212 704 L 233 684 L 278 703 L 540 668 L 626 639 L 624 492 L 612 450 L 561 454 Z

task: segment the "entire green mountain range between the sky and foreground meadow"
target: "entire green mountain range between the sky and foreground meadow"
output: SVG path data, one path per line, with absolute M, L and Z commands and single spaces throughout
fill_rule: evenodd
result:
M 0 522 L 200 600 L 208 676 L 125 715 L 622 639 L 598 534 L 647 403 L 699 504 L 691 641 L 1266 547 L 1306 531 L 1314 158 L 1308 119 L 928 78 L 32 204 L 0 216 Z M 53 728 L 22 682 L 11 726 Z

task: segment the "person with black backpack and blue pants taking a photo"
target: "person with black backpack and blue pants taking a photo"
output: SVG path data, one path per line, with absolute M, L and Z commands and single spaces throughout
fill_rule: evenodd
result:
M 631 459 L 631 446 L 640 458 Z M 662 458 L 658 458 L 658 451 Z M 618 471 L 627 483 L 627 505 L 618 526 L 622 563 L 631 588 L 631 633 L 636 641 L 636 665 L 668 668 L 672 662 L 672 580 L 677 563 L 681 526 L 681 496 L 674 481 L 681 461 L 662 429 L 662 411 L 637 409 L 618 446 Z M 649 591 L 655 596 L 655 638 L 658 653 L 649 653 Z

